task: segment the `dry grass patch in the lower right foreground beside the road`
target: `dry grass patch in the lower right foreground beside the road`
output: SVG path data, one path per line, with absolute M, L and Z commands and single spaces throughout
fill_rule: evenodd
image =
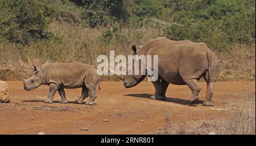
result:
M 239 96 L 249 99 L 250 104 L 245 101 L 246 104 L 237 105 L 239 108 L 232 114 L 220 119 L 187 120 L 187 110 L 184 110 L 181 122 L 175 122 L 172 119 L 174 111 L 164 110 L 165 122 L 163 128 L 159 128 L 158 134 L 209 134 L 213 132 L 221 135 L 255 135 L 255 92 L 243 93 Z

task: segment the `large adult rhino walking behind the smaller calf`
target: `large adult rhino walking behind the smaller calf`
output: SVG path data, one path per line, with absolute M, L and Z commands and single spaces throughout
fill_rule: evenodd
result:
M 151 99 L 166 100 L 169 84 L 188 85 L 192 90 L 191 103 L 195 103 L 199 100 L 198 94 L 201 90 L 197 80 L 203 76 L 207 82 L 207 96 L 203 105 L 213 106 L 213 88 L 220 72 L 220 62 L 207 45 L 189 40 L 173 41 L 166 37 L 158 37 L 140 45 L 139 49 L 135 45 L 132 48 L 134 55 L 158 55 L 158 80 L 152 82 L 155 95 L 152 95 Z M 125 87 L 133 87 L 146 76 L 117 77 L 123 80 Z

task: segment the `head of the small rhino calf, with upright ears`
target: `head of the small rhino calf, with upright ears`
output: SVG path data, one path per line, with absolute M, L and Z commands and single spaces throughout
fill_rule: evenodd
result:
M 34 70 L 34 75 L 27 80 L 23 79 L 24 89 L 27 91 L 36 89 L 40 85 L 43 84 L 43 73 L 42 70 L 39 68 L 36 68 L 36 66 L 32 66 L 32 69 Z

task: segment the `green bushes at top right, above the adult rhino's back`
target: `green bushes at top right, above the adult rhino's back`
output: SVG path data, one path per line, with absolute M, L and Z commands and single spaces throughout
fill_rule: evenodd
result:
M 255 43 L 255 1 L 173 1 L 170 26 L 164 35 L 172 40 L 203 41 L 210 48 Z

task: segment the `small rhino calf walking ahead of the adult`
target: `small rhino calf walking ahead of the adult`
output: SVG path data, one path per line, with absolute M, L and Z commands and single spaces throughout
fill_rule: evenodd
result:
M 92 65 L 82 64 L 80 62 L 72 63 L 47 63 L 36 68 L 33 66 L 34 75 L 27 80 L 23 79 L 24 89 L 27 91 L 36 89 L 40 85 L 49 86 L 48 98 L 44 103 L 53 103 L 52 99 L 59 92 L 60 103 L 67 103 L 64 88 L 75 89 L 82 87 L 81 97 L 76 103 L 83 103 L 86 97 L 90 99 L 86 105 L 94 105 L 93 101 L 97 98 L 96 87 L 100 90 L 100 76 L 96 68 Z

